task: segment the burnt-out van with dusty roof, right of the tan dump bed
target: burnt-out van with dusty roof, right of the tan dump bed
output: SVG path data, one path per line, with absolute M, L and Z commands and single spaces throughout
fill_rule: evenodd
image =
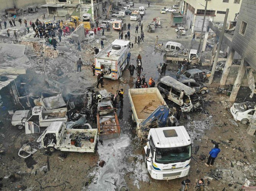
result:
M 195 89 L 186 86 L 171 76 L 159 78 L 157 88 L 164 99 L 167 98 L 179 105 L 183 112 L 196 110 L 203 105 L 203 99 L 195 94 Z

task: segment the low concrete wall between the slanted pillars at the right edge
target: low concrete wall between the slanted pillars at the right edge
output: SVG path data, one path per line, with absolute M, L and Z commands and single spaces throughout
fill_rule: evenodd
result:
M 226 81 L 226 85 L 229 85 L 229 84 L 233 85 L 234 84 L 234 82 L 237 78 L 237 73 L 238 73 L 239 67 L 240 67 L 240 65 L 232 65 L 230 67 L 230 71 L 228 73 L 228 78 L 227 78 L 227 81 Z M 249 71 L 250 71 L 249 67 L 247 67 L 247 71 L 248 71 L 248 75 L 249 75 Z M 256 79 L 256 73 L 255 72 L 254 72 L 253 76 L 254 76 L 254 79 Z M 243 76 L 241 86 L 248 86 L 248 80 L 247 80 L 246 73 Z

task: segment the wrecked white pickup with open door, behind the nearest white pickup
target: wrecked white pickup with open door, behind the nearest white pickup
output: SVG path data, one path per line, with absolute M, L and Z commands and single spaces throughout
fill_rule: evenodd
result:
M 53 121 L 67 121 L 66 108 L 44 110 L 42 106 L 36 106 L 32 110 L 15 111 L 11 124 L 18 129 L 23 129 L 28 122 L 33 122 L 39 127 L 47 127 Z

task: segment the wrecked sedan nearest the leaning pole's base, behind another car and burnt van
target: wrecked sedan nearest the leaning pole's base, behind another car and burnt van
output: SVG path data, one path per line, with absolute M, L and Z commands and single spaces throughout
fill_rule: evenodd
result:
M 182 78 L 192 78 L 196 81 L 204 81 L 207 80 L 211 76 L 210 70 L 199 70 L 197 68 L 187 70 L 182 75 Z

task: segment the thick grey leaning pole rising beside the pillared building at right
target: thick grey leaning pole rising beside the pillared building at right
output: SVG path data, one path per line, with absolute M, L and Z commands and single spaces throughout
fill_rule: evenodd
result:
M 229 9 L 226 10 L 223 27 L 222 27 L 222 30 L 221 30 L 221 33 L 220 33 L 220 41 L 219 41 L 219 44 L 218 44 L 217 53 L 214 57 L 214 62 L 213 62 L 213 65 L 212 65 L 212 73 L 211 73 L 211 76 L 210 76 L 210 79 L 209 79 L 209 84 L 212 84 L 212 80 L 213 80 L 214 73 L 215 73 L 215 68 L 216 68 L 216 65 L 217 65 L 217 62 L 218 62 L 221 43 L 222 43 L 222 40 L 223 40 L 223 37 L 224 37 L 224 32 L 225 32 L 225 28 L 226 28 L 226 24 L 227 24 L 227 19 L 228 19 L 228 11 L 229 11 Z

